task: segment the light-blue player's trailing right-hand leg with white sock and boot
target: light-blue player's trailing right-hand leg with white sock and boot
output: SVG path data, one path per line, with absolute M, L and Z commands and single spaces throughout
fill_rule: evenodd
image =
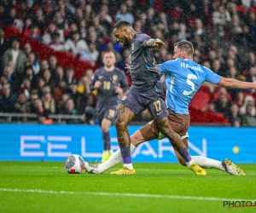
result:
M 183 143 L 186 147 L 189 148 L 189 143 L 187 138 L 183 139 Z M 175 151 L 178 162 L 185 166 L 186 163 L 182 158 L 182 156 L 179 153 L 177 153 L 176 150 L 174 151 Z M 241 168 L 238 167 L 236 164 L 233 164 L 232 161 L 228 158 L 224 159 L 223 162 L 220 162 L 212 158 L 202 157 L 202 156 L 191 156 L 191 158 L 194 159 L 195 164 L 200 165 L 202 168 L 222 170 L 234 176 L 245 176 L 245 173 L 243 172 L 243 170 L 241 170 Z

